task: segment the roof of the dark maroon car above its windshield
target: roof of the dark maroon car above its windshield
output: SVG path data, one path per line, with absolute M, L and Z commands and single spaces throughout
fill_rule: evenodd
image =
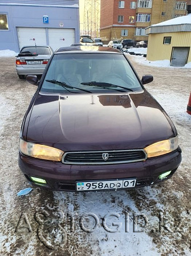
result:
M 111 47 L 97 45 L 74 45 L 68 47 L 60 47 L 55 51 L 55 54 L 75 52 L 75 53 L 120 53 L 120 50 Z

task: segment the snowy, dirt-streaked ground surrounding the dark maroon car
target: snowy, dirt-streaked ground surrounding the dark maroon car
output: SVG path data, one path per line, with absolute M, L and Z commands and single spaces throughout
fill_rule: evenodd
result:
M 140 77 L 153 74 L 145 87 L 178 130 L 182 163 L 172 179 L 132 191 L 34 188 L 18 197 L 29 187 L 17 164 L 19 129 L 36 87 L 19 80 L 15 55 L 0 51 L 0 255 L 191 255 L 190 69 L 143 65 L 144 57 L 128 54 Z

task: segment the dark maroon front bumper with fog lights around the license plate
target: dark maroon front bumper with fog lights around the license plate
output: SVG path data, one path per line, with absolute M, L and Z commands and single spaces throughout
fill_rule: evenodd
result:
M 62 162 L 35 159 L 19 152 L 19 167 L 36 186 L 51 190 L 75 191 L 76 181 L 136 178 L 136 187 L 144 187 L 172 177 L 181 163 L 181 149 L 143 162 L 109 165 L 70 165 Z M 164 179 L 159 175 L 171 171 Z M 36 184 L 30 176 L 45 179 L 47 184 Z

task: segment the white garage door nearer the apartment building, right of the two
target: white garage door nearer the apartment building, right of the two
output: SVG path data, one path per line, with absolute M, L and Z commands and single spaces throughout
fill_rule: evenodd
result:
M 49 45 L 56 50 L 59 47 L 70 46 L 75 42 L 74 29 L 48 29 Z

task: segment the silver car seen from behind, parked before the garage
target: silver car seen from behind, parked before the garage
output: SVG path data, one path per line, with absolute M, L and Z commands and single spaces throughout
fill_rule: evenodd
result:
M 54 50 L 50 46 L 23 46 L 16 60 L 16 70 L 20 79 L 27 74 L 42 74 Z

